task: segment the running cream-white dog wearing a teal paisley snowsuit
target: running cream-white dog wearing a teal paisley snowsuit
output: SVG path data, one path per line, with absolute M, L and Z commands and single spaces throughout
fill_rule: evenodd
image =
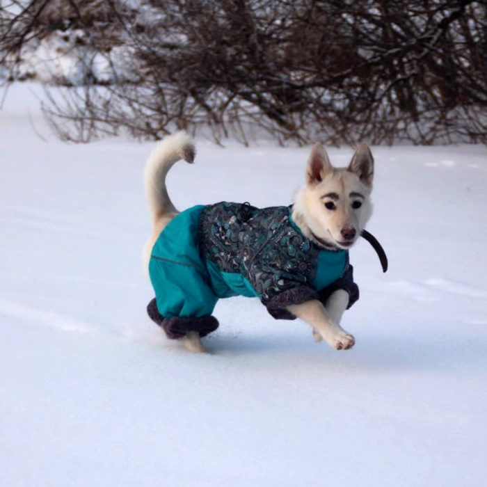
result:
M 257 296 L 273 317 L 302 319 L 315 340 L 351 349 L 355 339 L 340 321 L 358 299 L 348 251 L 372 215 L 369 147 L 360 144 L 347 168 L 335 168 L 315 144 L 290 207 L 221 202 L 179 213 L 166 175 L 177 161 L 194 158 L 191 137 L 179 131 L 157 143 L 145 166 L 152 236 L 144 265 L 156 292 L 147 307 L 153 321 L 202 352 L 201 338 L 218 327 L 211 316 L 218 298 Z

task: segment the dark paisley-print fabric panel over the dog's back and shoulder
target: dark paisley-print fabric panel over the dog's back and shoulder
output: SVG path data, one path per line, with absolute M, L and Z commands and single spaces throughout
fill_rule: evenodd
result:
M 231 202 L 205 207 L 199 225 L 202 257 L 221 271 L 245 276 L 264 305 L 289 289 L 310 287 L 320 248 L 295 229 L 289 211 Z

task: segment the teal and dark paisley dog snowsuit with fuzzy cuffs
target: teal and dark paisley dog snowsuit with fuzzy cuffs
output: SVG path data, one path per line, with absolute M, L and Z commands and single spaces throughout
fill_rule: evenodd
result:
M 259 297 L 276 319 L 295 319 L 287 306 L 326 301 L 337 289 L 358 299 L 349 253 L 323 248 L 301 233 L 291 207 L 248 203 L 198 205 L 173 218 L 149 264 L 156 294 L 147 312 L 170 338 L 218 328 L 216 301 Z

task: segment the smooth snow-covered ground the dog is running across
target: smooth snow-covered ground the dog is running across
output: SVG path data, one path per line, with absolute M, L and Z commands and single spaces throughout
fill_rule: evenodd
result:
M 0 111 L 2 486 L 486 485 L 485 147 L 373 147 L 390 271 L 351 250 L 354 349 L 232 298 L 194 355 L 145 314 L 151 145 L 42 141 L 36 104 Z M 198 141 L 170 193 L 287 204 L 308 150 Z

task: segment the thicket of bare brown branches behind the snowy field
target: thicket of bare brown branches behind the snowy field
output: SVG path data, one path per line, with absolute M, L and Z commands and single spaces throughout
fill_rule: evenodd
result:
M 246 143 L 487 142 L 486 10 L 470 0 L 33 0 L 3 9 L 0 52 L 81 29 L 113 67 L 51 92 L 65 139 L 209 127 Z M 120 75 L 111 52 L 129 54 Z M 80 51 L 86 54 L 86 51 Z M 80 54 L 90 63 L 89 56 Z

